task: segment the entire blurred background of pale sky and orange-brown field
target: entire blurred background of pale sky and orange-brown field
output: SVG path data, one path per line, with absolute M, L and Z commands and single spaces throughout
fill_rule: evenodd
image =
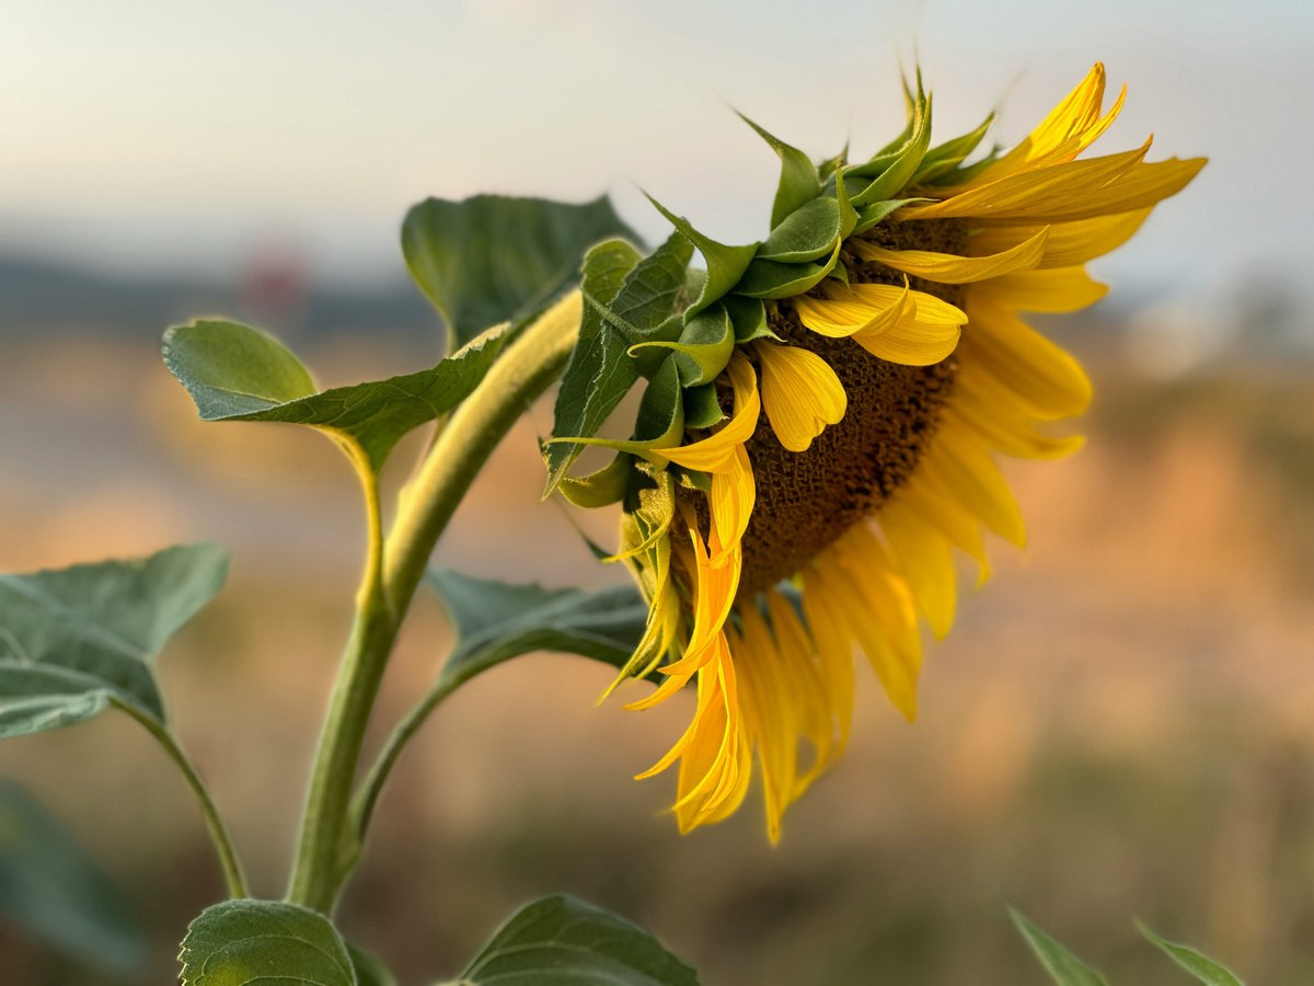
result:
M 406 208 L 640 188 L 757 238 L 775 159 L 899 131 L 920 63 L 940 138 L 1022 137 L 1102 59 L 1127 106 L 1099 151 L 1210 166 L 1093 266 L 1113 293 L 1046 329 L 1097 401 L 1085 451 L 1012 464 L 1025 553 L 996 546 L 930 647 L 907 726 L 859 676 L 854 739 L 777 848 L 759 810 L 690 837 L 636 784 L 687 707 L 594 701 L 608 670 L 535 656 L 455 698 L 402 760 L 342 920 L 403 983 L 459 970 L 518 903 L 569 891 L 652 928 L 710 986 L 1041 983 L 1013 903 L 1117 983 L 1167 982 L 1133 920 L 1252 982 L 1314 981 L 1314 8 L 1109 0 L 846 4 L 167 4 L 8 0 L 0 33 L 0 571 L 214 539 L 229 585 L 164 655 L 171 715 L 281 894 L 361 550 L 350 471 L 293 429 L 196 421 L 160 331 L 222 313 L 325 384 L 431 364 Z M 539 505 L 540 406 L 438 559 L 603 585 Z M 393 458 L 405 477 L 417 444 Z M 607 535 L 607 522 L 589 518 Z M 448 631 L 420 599 L 377 735 Z M 0 981 L 166 982 L 222 894 L 148 738 L 104 716 L 0 745 L 147 929 L 116 978 L 0 924 Z

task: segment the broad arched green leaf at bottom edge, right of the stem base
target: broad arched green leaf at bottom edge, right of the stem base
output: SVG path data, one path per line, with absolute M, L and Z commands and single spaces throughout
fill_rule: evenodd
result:
M 548 897 L 509 920 L 460 986 L 698 986 L 698 974 L 623 918 Z

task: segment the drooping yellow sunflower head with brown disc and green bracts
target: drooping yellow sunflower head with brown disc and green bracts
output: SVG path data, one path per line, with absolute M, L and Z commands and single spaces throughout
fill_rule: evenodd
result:
M 993 461 L 1063 456 L 1050 422 L 1091 384 L 1022 319 L 1075 312 L 1105 287 L 1084 264 L 1131 237 L 1204 159 L 1135 150 L 1081 159 L 1113 122 L 1104 67 L 1007 153 L 964 163 L 991 120 L 930 145 L 932 100 L 905 85 L 908 122 L 869 160 L 781 159 L 770 234 L 717 243 L 661 205 L 675 231 L 648 256 L 623 241 L 585 263 L 581 342 L 547 446 L 548 490 L 619 502 L 620 550 L 648 603 L 619 681 L 696 684 L 678 764 L 681 831 L 744 801 L 757 760 L 767 831 L 844 751 L 854 652 L 909 720 L 925 623 L 954 621 L 954 550 L 989 575 L 983 534 L 1022 546 Z M 656 204 L 656 202 L 654 202 Z M 689 271 L 692 250 L 706 272 Z M 598 438 L 644 384 L 632 436 Z M 615 450 L 573 476 L 585 446 Z

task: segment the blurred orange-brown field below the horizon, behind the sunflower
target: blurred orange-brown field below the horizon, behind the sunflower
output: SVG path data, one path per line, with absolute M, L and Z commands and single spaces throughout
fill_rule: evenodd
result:
M 281 894 L 305 768 L 346 636 L 361 525 L 327 442 L 202 426 L 148 344 L 0 350 L 0 569 L 213 538 L 230 582 L 164 655 L 171 714 Z M 411 368 L 339 346 L 328 383 Z M 1221 364 L 1222 365 L 1222 364 Z M 853 744 L 771 848 L 756 803 L 690 837 L 673 781 L 636 784 L 687 707 L 594 707 L 607 669 L 536 656 L 474 682 L 403 759 L 342 912 L 403 983 L 449 975 L 511 907 L 569 891 L 657 932 L 710 986 L 1041 983 L 1013 903 L 1114 983 L 1181 977 L 1133 920 L 1254 983 L 1314 981 L 1311 368 L 1229 362 L 1156 380 L 1095 360 L 1089 447 L 1009 475 L 1031 528 L 929 649 L 907 726 L 859 676 Z M 600 584 L 541 482 L 539 409 L 439 559 Z M 414 455 L 397 455 L 399 480 Z M 595 522 L 593 518 L 590 522 Z M 606 535 L 606 526 L 593 528 Z M 380 731 L 447 631 L 422 599 Z M 148 739 L 105 716 L 0 745 L 158 935 L 222 893 L 200 816 Z M 1184 979 L 1183 979 L 1184 981 Z M 112 983 L 0 928 L 0 982 Z

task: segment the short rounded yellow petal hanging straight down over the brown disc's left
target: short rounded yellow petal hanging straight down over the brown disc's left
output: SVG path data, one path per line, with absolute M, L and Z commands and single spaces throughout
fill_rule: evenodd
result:
M 840 377 L 815 352 L 763 342 L 754 347 L 762 368 L 762 404 L 771 430 L 791 452 L 812 444 L 844 418 L 848 397 Z

